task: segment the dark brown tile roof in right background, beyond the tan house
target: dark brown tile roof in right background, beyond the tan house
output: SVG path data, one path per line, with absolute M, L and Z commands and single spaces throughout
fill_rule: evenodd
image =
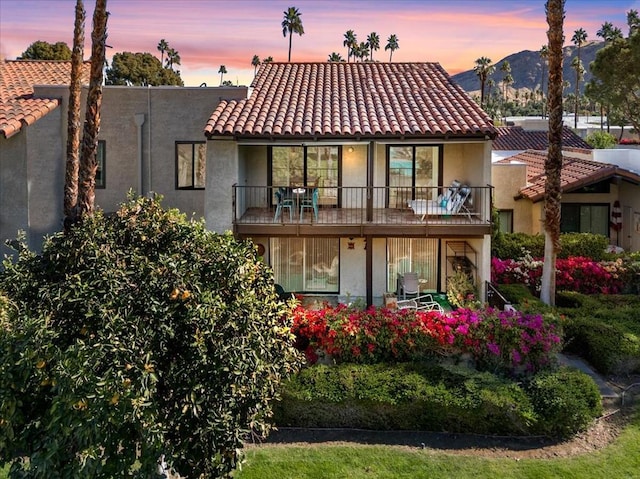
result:
M 521 126 L 499 126 L 496 128 L 498 136 L 493 140 L 494 150 L 546 150 L 549 147 L 546 130 L 525 130 Z M 592 149 L 589 143 L 567 126 L 562 127 L 562 148 Z

